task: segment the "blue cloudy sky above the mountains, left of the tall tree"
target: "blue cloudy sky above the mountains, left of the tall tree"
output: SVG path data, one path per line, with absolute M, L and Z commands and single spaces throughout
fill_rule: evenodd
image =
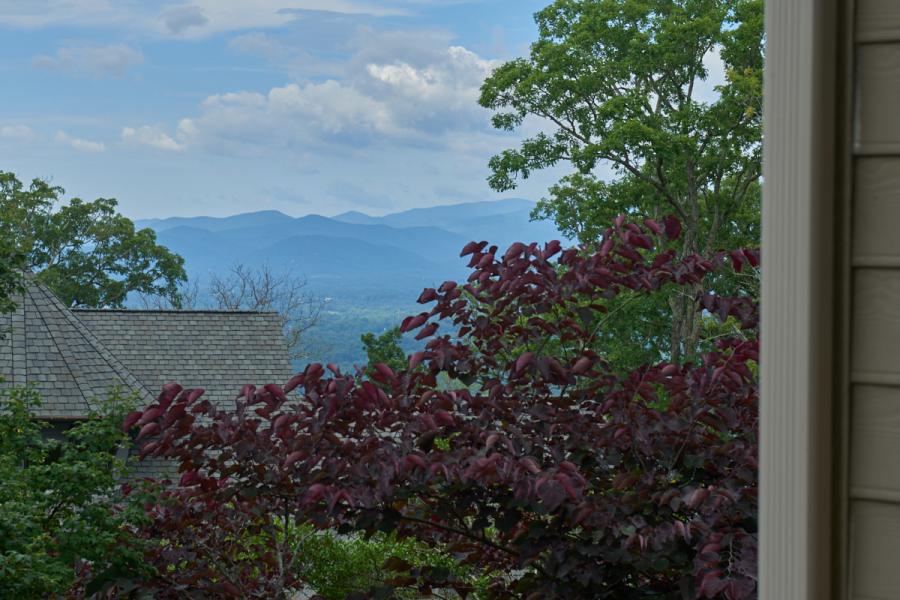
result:
M 547 0 L 0 0 L 0 170 L 131 218 L 373 215 L 492 192 L 477 104 Z

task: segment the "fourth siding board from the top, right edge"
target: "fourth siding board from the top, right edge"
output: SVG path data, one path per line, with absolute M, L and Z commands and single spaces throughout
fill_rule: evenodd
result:
M 900 384 L 900 271 L 856 271 L 852 326 L 853 380 Z

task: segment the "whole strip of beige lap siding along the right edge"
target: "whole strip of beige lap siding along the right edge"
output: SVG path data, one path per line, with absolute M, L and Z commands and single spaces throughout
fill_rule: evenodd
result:
M 900 0 L 857 0 L 849 597 L 900 598 Z

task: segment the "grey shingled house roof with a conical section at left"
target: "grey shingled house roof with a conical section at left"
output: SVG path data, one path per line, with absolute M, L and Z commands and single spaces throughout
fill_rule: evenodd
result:
M 149 401 L 175 381 L 225 403 L 291 375 L 275 313 L 68 309 L 33 279 L 16 300 L 0 315 L 0 386 L 33 385 L 42 418 L 84 417 L 113 387 Z

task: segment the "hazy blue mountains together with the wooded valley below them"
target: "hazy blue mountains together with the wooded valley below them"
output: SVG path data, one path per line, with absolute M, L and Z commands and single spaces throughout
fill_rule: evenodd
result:
M 506 249 L 517 241 L 563 237 L 551 222 L 530 220 L 521 198 L 417 208 L 381 217 L 351 211 L 334 217 L 291 217 L 259 211 L 230 217 L 170 217 L 135 222 L 185 259 L 201 288 L 236 263 L 305 278 L 329 298 L 314 333 L 311 359 L 340 364 L 364 359 L 359 336 L 399 324 L 415 310 L 423 287 L 466 277 L 459 257 L 469 241 Z

